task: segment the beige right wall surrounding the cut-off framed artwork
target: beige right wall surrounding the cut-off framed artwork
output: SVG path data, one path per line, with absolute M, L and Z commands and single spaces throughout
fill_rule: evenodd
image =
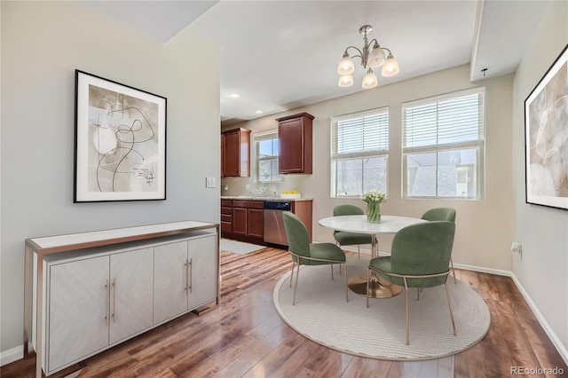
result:
M 517 69 L 514 90 L 513 184 L 516 240 L 523 256 L 512 271 L 568 358 L 568 211 L 525 203 L 525 98 L 568 43 L 568 2 L 551 2 Z M 568 361 L 567 361 L 568 362 Z

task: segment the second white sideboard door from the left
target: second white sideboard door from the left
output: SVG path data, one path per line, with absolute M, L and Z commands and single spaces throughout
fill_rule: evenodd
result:
M 110 256 L 110 343 L 152 327 L 154 248 Z

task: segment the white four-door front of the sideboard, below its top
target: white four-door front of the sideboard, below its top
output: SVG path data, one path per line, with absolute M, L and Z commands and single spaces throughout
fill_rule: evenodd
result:
M 46 257 L 43 372 L 53 374 L 214 303 L 218 264 L 213 232 Z

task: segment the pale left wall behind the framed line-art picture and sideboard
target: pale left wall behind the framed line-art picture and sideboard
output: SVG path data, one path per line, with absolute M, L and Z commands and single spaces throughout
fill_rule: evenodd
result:
M 4 352 L 22 343 L 25 239 L 219 222 L 220 116 L 218 47 L 191 29 L 163 44 L 83 2 L 1 7 Z M 168 98 L 166 201 L 73 203 L 75 68 Z

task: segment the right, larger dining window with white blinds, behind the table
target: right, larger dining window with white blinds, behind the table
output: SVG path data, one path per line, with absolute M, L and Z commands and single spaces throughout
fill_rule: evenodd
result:
M 484 197 L 485 89 L 402 106 L 403 197 Z

